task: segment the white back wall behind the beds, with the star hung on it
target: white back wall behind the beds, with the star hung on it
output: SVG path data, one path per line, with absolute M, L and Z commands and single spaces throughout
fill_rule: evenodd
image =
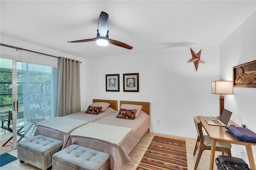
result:
M 118 105 L 120 100 L 150 102 L 151 131 L 196 138 L 193 117 L 219 115 L 219 96 L 211 94 L 211 81 L 219 79 L 219 47 L 202 47 L 205 64 L 197 72 L 187 63 L 191 58 L 189 47 L 176 47 L 88 59 L 85 105 L 92 98 L 118 100 Z M 139 73 L 140 92 L 123 92 L 124 73 Z M 120 74 L 120 92 L 106 92 L 106 74 Z

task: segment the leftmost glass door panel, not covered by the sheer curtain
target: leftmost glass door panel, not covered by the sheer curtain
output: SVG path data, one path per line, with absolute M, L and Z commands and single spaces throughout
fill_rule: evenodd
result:
M 22 85 L 22 73 L 17 72 L 17 63 L 11 59 L 0 58 L 0 120 L 1 152 L 16 147 L 18 94 Z M 18 99 L 19 98 L 19 99 Z M 16 130 L 14 130 L 16 129 Z

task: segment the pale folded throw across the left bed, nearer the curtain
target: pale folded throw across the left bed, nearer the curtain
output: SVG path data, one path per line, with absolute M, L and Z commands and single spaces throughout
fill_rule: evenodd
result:
M 67 118 L 67 117 L 53 117 L 51 119 L 41 121 L 37 125 L 50 127 L 52 129 L 55 129 L 67 134 L 67 133 L 70 133 L 72 130 L 76 129 L 77 127 L 85 125 L 86 123 L 88 123 L 88 121 L 82 121 L 77 119 L 74 121 L 74 119 Z

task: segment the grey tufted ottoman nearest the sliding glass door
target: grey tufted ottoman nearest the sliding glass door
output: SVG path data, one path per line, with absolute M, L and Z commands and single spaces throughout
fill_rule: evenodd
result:
M 18 159 L 42 170 L 52 166 L 52 155 L 61 150 L 63 141 L 37 135 L 18 143 Z

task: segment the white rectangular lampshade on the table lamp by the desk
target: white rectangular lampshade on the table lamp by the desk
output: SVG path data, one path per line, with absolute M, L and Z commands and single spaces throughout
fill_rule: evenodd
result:
M 213 81 L 213 94 L 233 94 L 233 81 Z

